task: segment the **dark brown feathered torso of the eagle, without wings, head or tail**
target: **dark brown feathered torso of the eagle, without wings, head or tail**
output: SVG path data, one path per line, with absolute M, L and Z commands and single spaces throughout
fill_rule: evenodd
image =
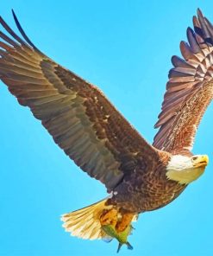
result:
M 158 152 L 159 162 L 148 169 L 144 163 L 129 171 L 114 190 L 109 204 L 122 210 L 139 214 L 166 206 L 184 189 L 185 184 L 168 180 L 166 166 L 171 156 L 166 152 Z M 146 162 L 145 162 L 146 164 Z M 134 186 L 133 186 L 134 184 Z

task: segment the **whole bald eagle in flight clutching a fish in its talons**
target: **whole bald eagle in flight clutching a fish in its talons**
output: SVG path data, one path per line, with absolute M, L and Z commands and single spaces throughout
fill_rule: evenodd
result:
M 200 10 L 172 56 L 153 144 L 94 85 L 34 46 L 15 13 L 22 36 L 0 23 L 0 79 L 53 136 L 81 170 L 103 182 L 108 197 L 63 214 L 67 232 L 83 239 L 128 243 L 138 214 L 172 202 L 204 173 L 208 156 L 191 153 L 197 126 L 213 98 L 213 26 Z

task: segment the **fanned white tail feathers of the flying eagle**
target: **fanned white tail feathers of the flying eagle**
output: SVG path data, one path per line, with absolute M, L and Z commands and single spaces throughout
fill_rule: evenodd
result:
M 69 214 L 63 214 L 61 221 L 65 222 L 63 227 L 65 227 L 66 232 L 88 240 L 107 238 L 108 236 L 103 232 L 99 221 L 103 209 L 111 208 L 111 206 L 105 206 L 106 201 L 107 199 L 104 199 L 86 208 L 79 209 Z

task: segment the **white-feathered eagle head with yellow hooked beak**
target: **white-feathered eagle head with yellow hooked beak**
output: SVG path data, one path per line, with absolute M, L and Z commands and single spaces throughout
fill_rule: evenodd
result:
M 166 166 L 166 176 L 169 180 L 188 184 L 197 180 L 204 173 L 208 163 L 209 157 L 207 155 L 192 157 L 174 155 Z

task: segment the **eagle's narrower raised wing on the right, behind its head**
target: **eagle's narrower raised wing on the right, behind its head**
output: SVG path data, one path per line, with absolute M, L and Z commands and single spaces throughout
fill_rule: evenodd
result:
M 197 126 L 213 98 L 213 26 L 200 10 L 193 17 L 194 31 L 187 29 L 188 42 L 180 43 L 184 57 L 172 57 L 160 127 L 153 146 L 172 153 L 189 154 Z

